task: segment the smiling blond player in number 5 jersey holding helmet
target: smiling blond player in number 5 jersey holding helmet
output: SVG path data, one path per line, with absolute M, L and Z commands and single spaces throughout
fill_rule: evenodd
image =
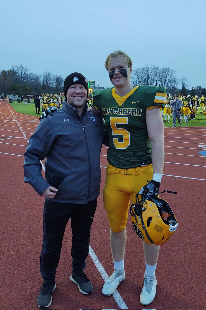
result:
M 110 225 L 114 272 L 105 282 L 102 293 L 110 295 L 125 279 L 124 254 L 130 199 L 135 203 L 138 192 L 146 191 L 152 197 L 159 193 L 164 163 L 160 107 L 166 104 L 167 95 L 164 87 L 133 88 L 130 82 L 132 61 L 122 51 L 109 54 L 105 68 L 114 87 L 95 91 L 93 107 L 89 109 L 96 109 L 96 113 L 104 117 L 109 133 L 103 199 Z M 146 271 L 140 302 L 148 305 L 156 293 L 155 269 L 159 246 L 143 242 L 143 250 Z

